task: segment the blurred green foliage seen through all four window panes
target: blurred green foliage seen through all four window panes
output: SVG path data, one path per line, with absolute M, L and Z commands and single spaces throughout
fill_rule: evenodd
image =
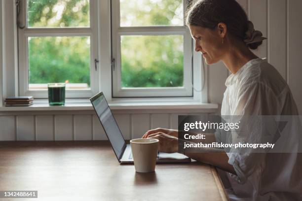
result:
M 183 26 L 182 0 L 120 0 L 121 26 Z M 89 27 L 89 0 L 28 0 L 29 28 Z M 95 42 L 95 41 L 93 41 Z M 182 35 L 121 36 L 122 87 L 183 86 Z M 87 83 L 90 37 L 29 37 L 29 83 Z

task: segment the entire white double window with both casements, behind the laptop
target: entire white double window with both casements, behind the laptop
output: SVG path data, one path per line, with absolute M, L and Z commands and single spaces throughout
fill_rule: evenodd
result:
M 184 26 L 187 0 L 12 2 L 20 96 L 47 98 L 47 83 L 66 82 L 67 98 L 199 99 L 192 86 L 204 73 Z

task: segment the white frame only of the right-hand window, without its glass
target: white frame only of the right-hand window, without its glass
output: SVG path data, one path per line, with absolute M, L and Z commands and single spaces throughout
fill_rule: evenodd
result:
M 183 0 L 186 9 L 187 0 Z M 192 97 L 192 39 L 189 29 L 185 26 L 154 26 L 154 27 L 120 27 L 119 0 L 112 0 L 112 87 L 113 98 L 122 97 Z M 185 19 L 185 11 L 184 11 Z M 121 87 L 121 35 L 183 35 L 184 37 L 184 86 L 153 87 L 153 88 L 122 88 Z M 114 69 L 113 69 L 114 67 Z

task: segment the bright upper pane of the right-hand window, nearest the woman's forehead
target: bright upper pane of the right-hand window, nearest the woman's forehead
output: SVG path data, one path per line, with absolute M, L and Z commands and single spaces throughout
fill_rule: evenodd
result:
M 120 26 L 183 26 L 183 0 L 120 0 Z

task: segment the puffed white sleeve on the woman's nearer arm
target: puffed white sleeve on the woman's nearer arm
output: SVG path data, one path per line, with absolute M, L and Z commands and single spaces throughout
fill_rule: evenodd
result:
M 244 119 L 244 134 L 231 132 L 231 143 L 259 143 L 263 133 L 257 117 L 273 115 L 275 107 L 276 97 L 265 84 L 251 81 L 241 85 L 235 93 L 231 115 Z M 256 118 L 253 119 L 253 116 Z M 230 174 L 233 179 L 243 184 L 251 174 L 256 174 L 256 178 L 260 178 L 265 153 L 254 153 L 252 148 L 231 148 L 227 155 L 228 163 L 234 167 L 237 174 L 237 176 Z

